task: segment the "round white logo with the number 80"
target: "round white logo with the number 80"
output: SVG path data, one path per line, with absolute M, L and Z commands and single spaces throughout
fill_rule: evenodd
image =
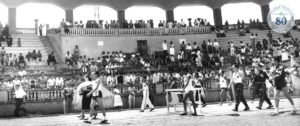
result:
M 278 33 L 286 33 L 295 25 L 292 10 L 284 5 L 278 5 L 268 14 L 269 27 Z

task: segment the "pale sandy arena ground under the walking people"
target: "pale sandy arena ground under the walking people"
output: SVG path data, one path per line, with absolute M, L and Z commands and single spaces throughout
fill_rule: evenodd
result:
M 295 106 L 298 109 L 297 113 L 300 113 L 300 98 L 294 98 Z M 272 100 L 274 103 L 274 100 Z M 251 111 L 239 111 L 232 112 L 234 105 L 228 105 L 228 103 L 219 106 L 218 104 L 209 104 L 205 108 L 198 108 L 199 116 L 180 116 L 183 109 L 178 106 L 177 112 L 173 107 L 170 112 L 167 112 L 166 107 L 156 108 L 153 112 L 146 110 L 144 113 L 140 113 L 139 110 L 123 110 L 123 111 L 109 111 L 107 112 L 107 118 L 111 126 L 299 126 L 300 114 L 291 115 L 291 105 L 286 99 L 280 101 L 279 116 L 270 116 L 269 114 L 274 109 L 266 109 L 267 103 L 264 103 L 262 110 L 257 110 L 255 107 L 258 105 L 258 101 L 254 103 L 248 102 Z M 240 110 L 244 106 L 240 105 Z M 93 120 L 92 124 L 83 123 L 78 119 L 79 114 L 68 115 L 49 115 L 38 116 L 31 115 L 21 118 L 2 118 L 0 119 L 1 126 L 88 126 L 88 125 L 100 125 L 99 119 Z M 101 114 L 99 114 L 101 115 Z M 86 114 L 87 116 L 87 114 Z

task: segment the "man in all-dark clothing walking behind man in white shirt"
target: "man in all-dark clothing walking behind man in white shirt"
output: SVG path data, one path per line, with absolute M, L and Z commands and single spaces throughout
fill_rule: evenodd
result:
M 265 82 L 267 79 L 269 79 L 269 76 L 267 75 L 266 72 L 261 70 L 261 66 L 259 65 L 255 71 L 254 81 L 253 81 L 253 83 L 256 84 L 256 88 L 259 92 L 259 97 L 260 97 L 259 105 L 256 107 L 258 109 L 261 109 L 264 101 L 266 101 L 269 104 L 269 107 L 267 109 L 273 108 L 273 105 L 266 93 L 267 87 Z

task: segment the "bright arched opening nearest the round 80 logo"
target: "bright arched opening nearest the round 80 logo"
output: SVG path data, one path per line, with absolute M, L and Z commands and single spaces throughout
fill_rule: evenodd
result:
M 249 23 L 250 19 L 262 21 L 261 7 L 255 3 L 225 4 L 221 7 L 222 19 L 229 24 L 236 24 L 238 20 Z

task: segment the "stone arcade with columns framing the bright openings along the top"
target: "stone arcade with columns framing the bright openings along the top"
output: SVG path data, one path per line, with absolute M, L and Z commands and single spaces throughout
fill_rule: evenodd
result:
M 120 2 L 121 1 L 121 2 Z M 207 8 L 211 8 L 212 11 L 208 12 L 211 13 L 213 18 L 210 18 L 209 21 L 211 24 L 214 24 L 216 26 L 221 26 L 224 22 L 222 18 L 222 7 L 226 4 L 231 3 L 243 3 L 243 2 L 252 2 L 254 4 L 257 4 L 261 8 L 261 15 L 262 15 L 262 21 L 266 22 L 266 15 L 269 12 L 269 3 L 272 0 L 43 0 L 42 4 L 53 4 L 60 8 L 62 8 L 65 11 L 64 18 L 66 21 L 74 21 L 74 10 L 77 7 L 80 7 L 82 5 L 103 5 L 110 7 L 117 12 L 117 20 L 120 22 L 124 21 L 126 19 L 125 11 L 133 6 L 154 6 L 161 8 L 165 11 L 165 20 L 166 21 L 174 21 L 176 15 L 175 9 L 179 6 L 185 6 L 185 5 L 202 5 Z M 18 8 L 23 6 L 23 4 L 27 3 L 41 3 L 40 0 L 0 0 L 0 3 L 2 3 L 4 6 L 6 6 L 8 9 L 8 25 L 11 28 L 16 28 L 17 26 L 17 13 Z M 1 6 L 0 6 L 1 7 Z M 76 15 L 76 14 L 75 14 Z M 59 15 L 58 17 L 61 17 Z M 75 16 L 76 17 L 76 16 Z M 177 18 L 177 17 L 176 17 Z

